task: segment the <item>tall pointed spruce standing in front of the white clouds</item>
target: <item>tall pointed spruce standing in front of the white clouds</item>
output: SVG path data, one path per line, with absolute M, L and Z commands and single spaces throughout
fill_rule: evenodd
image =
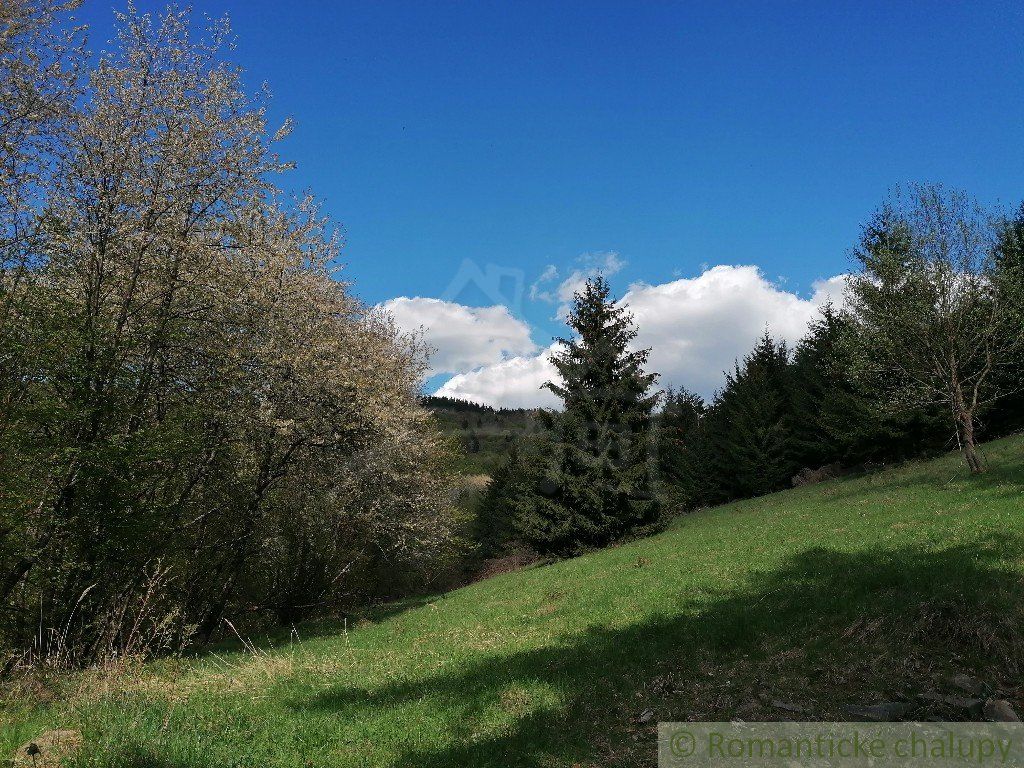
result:
M 660 523 L 649 444 L 657 375 L 644 372 L 648 350 L 629 349 L 637 336 L 632 315 L 609 292 L 598 276 L 574 296 L 567 322 L 575 336 L 559 339 L 553 355 L 561 381 L 545 384 L 563 410 L 545 414 L 553 442 L 547 471 L 517 527 L 549 554 L 602 547 Z

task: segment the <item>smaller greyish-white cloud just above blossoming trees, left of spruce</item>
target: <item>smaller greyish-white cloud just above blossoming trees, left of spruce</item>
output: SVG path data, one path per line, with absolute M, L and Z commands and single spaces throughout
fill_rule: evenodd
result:
M 505 306 L 470 307 L 440 299 L 399 296 L 380 307 L 403 331 L 422 329 L 427 343 L 434 348 L 431 376 L 461 374 L 537 351 L 529 338 L 529 326 L 513 317 Z

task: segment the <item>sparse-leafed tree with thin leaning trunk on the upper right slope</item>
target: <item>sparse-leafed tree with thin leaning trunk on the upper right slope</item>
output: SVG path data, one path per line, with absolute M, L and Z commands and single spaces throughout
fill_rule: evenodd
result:
M 1004 393 L 1000 374 L 1024 345 L 997 221 L 963 193 L 915 185 L 882 207 L 855 255 L 850 300 L 865 370 L 894 402 L 946 406 L 968 465 L 982 471 L 979 413 Z

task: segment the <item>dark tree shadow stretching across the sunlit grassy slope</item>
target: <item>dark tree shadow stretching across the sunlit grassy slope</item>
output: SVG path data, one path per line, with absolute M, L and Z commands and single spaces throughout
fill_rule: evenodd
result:
M 684 612 L 623 629 L 591 629 L 562 645 L 487 657 L 425 680 L 373 690 L 341 685 L 294 699 L 291 706 L 343 720 L 410 702 L 451 713 L 445 719 L 447 746 L 411 746 L 394 766 L 540 766 L 552 759 L 571 764 L 598 756 L 614 763 L 616 755 L 632 754 L 629 737 L 638 730 L 644 731 L 644 762 L 651 762 L 651 729 L 640 729 L 633 721 L 639 702 L 647 700 L 643 696 L 656 696 L 649 684 L 666 676 L 682 677 L 682 688 L 693 689 L 698 673 L 711 670 L 712 678 L 717 673 L 730 677 L 735 672 L 731 665 L 742 659 L 752 667 L 751 680 L 767 679 L 784 689 L 786 682 L 773 680 L 774 675 L 822 666 L 845 673 L 870 659 L 872 667 L 862 670 L 866 678 L 848 691 L 855 696 L 880 686 L 913 685 L 914 675 L 943 663 L 1017 675 L 1017 628 L 1005 620 L 1019 615 L 1021 574 L 1011 563 L 1022 552 L 1020 539 L 988 539 L 938 552 L 815 549 L 777 570 L 753 575 L 733 594 L 691 605 L 680 596 Z M 850 628 L 858 626 L 878 629 L 852 636 Z M 790 650 L 802 650 L 797 669 L 773 655 L 782 651 L 785 656 Z M 909 664 L 911 657 L 922 664 Z M 510 689 L 537 681 L 559 692 L 558 709 L 524 713 L 500 733 L 475 732 L 486 711 L 508 710 Z M 797 689 L 784 693 L 790 700 L 807 700 L 827 693 L 821 686 L 835 685 L 827 673 L 818 682 L 816 687 L 814 680 L 801 677 Z M 713 696 L 719 683 L 712 679 L 691 692 Z M 686 710 L 672 709 L 684 705 Z M 691 719 L 693 706 L 694 699 L 685 695 L 660 696 L 657 719 Z M 709 711 L 707 701 L 703 706 L 703 719 L 731 715 Z M 825 715 L 836 717 L 835 712 L 802 717 Z

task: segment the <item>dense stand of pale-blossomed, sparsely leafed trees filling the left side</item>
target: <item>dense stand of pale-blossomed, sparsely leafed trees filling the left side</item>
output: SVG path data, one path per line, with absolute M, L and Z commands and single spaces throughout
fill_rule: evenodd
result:
M 0 667 L 428 582 L 457 513 L 425 350 L 275 185 L 289 126 L 225 26 L 132 10 L 93 59 L 68 6 L 0 19 Z

